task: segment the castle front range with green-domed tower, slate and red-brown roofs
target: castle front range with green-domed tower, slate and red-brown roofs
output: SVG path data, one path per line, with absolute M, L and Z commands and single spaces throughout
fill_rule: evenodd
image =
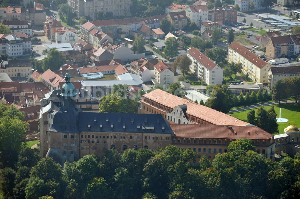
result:
M 128 148 L 155 150 L 175 145 L 196 151 L 197 158 L 191 160 L 196 165 L 202 156 L 213 160 L 217 153 L 227 152 L 230 142 L 247 138 L 253 140 L 257 153 L 274 158 L 273 135 L 256 126 L 169 125 L 160 114 L 82 112 L 76 106 L 76 100 L 71 100 L 77 97 L 76 89 L 67 75 L 65 77 L 66 83 L 57 99 L 42 100 L 39 121 L 41 157 L 53 157 L 63 163 L 77 161 L 88 154 L 100 157 L 103 149 L 124 152 Z M 170 100 L 173 102 L 177 101 Z M 202 113 L 205 114 L 214 113 Z

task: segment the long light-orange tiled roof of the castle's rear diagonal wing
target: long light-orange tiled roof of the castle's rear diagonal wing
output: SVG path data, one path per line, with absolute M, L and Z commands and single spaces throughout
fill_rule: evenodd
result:
M 187 114 L 201 118 L 212 124 L 240 126 L 245 126 L 249 124 L 247 122 L 229 116 L 225 113 L 219 112 L 209 107 L 202 106 L 200 104 L 194 103 L 193 101 L 177 97 L 175 95 L 162 91 L 161 89 L 155 89 L 154 91 L 144 94 L 143 96 L 145 98 L 151 99 L 173 109 L 176 106 L 186 104 Z

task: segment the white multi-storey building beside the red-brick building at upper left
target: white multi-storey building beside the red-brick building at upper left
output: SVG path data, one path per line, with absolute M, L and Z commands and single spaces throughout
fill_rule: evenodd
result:
M 78 40 L 75 29 L 61 27 L 55 32 L 56 43 L 70 43 L 72 46 Z

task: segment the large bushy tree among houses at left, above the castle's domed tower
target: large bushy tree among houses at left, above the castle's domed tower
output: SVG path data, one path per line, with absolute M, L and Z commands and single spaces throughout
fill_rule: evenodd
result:
M 64 58 L 60 51 L 55 48 L 51 48 L 48 51 L 48 56 L 44 58 L 42 63 L 42 69 L 46 71 L 50 69 L 52 71 L 59 70 L 60 66 L 66 63 L 66 58 Z

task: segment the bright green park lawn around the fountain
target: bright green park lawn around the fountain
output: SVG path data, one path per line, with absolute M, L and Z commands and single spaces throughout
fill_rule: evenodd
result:
M 265 106 L 264 109 L 265 110 L 269 110 L 271 108 L 271 106 Z M 291 125 L 291 124 L 295 124 L 296 126 L 300 126 L 300 117 L 299 117 L 299 113 L 300 113 L 300 104 L 295 104 L 295 103 L 281 103 L 278 105 L 274 105 L 274 109 L 277 113 L 277 117 L 279 117 L 279 109 L 281 108 L 281 117 L 288 119 L 288 122 L 283 122 L 283 123 L 278 123 L 278 130 L 279 133 L 284 133 L 284 128 Z M 243 121 L 247 121 L 247 113 L 250 110 L 245 110 L 245 111 L 241 111 L 241 112 L 235 112 L 235 113 L 231 113 L 231 116 L 238 118 L 240 120 Z M 256 111 L 256 109 L 255 109 Z

